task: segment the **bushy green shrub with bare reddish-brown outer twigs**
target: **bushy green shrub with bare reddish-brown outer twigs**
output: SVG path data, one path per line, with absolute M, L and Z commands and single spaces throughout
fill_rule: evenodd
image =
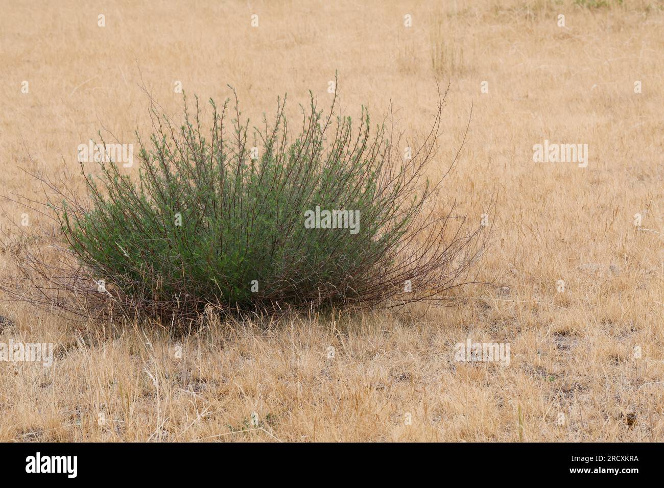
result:
M 272 313 L 444 299 L 472 281 L 487 234 L 465 230 L 454 204 L 442 212 L 434 198 L 442 177 L 425 175 L 444 100 L 439 92 L 432 127 L 410 157 L 391 117 L 372 130 L 363 108 L 354 127 L 335 115 L 336 95 L 325 113 L 311 96 L 294 134 L 278 100 L 274 122 L 264 117 L 251 138 L 237 98 L 221 107 L 210 100 L 207 125 L 198 99 L 192 114 L 185 98 L 181 125 L 153 104 L 138 178 L 108 154 L 95 176 L 81 165 L 83 198 L 37 177 L 66 245 L 21 248 L 27 286 L 9 289 L 96 317 L 162 319 L 209 305 Z

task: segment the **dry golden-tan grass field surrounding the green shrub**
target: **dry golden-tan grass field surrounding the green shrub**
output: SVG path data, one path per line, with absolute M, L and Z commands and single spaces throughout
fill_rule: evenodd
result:
M 325 106 L 338 70 L 344 115 L 391 102 L 413 134 L 449 82 L 432 175 L 472 118 L 440 204 L 477 222 L 497 205 L 479 264 L 493 285 L 448 307 L 210 315 L 177 337 L 2 296 L 0 343 L 53 343 L 54 362 L 0 361 L 0 441 L 664 440 L 663 2 L 2 4 L 2 195 L 39 199 L 22 169 L 82 189 L 80 143 L 149 131 L 143 86 L 177 118 L 177 82 L 218 101 L 230 84 L 258 123 L 286 92 L 292 116 L 308 90 Z M 535 163 L 545 139 L 587 144 L 587 167 Z M 11 234 L 25 209 L 0 206 Z M 509 365 L 455 361 L 468 339 L 509 343 Z

